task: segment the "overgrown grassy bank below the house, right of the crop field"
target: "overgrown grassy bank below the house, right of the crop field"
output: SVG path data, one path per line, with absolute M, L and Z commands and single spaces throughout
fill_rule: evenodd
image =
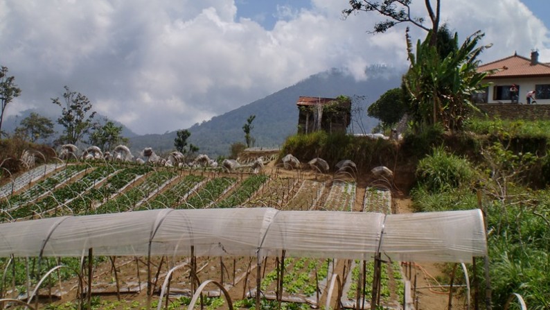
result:
M 483 209 L 493 304 L 512 293 L 529 309 L 550 303 L 550 122 L 474 119 L 460 132 L 423 128 L 397 143 L 322 132 L 287 139 L 281 154 L 394 169 L 417 212 Z M 483 264 L 475 274 L 484 279 Z M 471 267 L 470 267 L 471 268 Z M 470 279 L 472 277 L 470 276 Z

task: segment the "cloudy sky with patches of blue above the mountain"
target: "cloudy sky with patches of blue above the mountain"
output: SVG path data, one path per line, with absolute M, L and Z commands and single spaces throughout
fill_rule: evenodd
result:
M 425 17 L 423 3 L 413 0 L 414 16 Z M 348 6 L 347 0 L 0 0 L 0 64 L 21 88 L 6 114 L 37 108 L 60 115 L 51 98 L 62 97 L 66 85 L 140 135 L 163 133 L 327 69 L 364 80 L 369 64 L 406 68 L 406 25 L 373 35 L 382 17 L 344 18 Z M 482 62 L 533 50 L 550 62 L 548 0 L 442 0 L 441 16 L 461 41 L 485 33 L 483 44 L 493 46 Z M 425 36 L 412 29 L 414 40 Z

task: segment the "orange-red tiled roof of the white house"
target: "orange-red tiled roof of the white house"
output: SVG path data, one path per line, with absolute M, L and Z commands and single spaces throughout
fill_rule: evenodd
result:
M 517 54 L 511 55 L 488 64 L 477 67 L 478 72 L 497 70 L 488 78 L 528 78 L 550 76 L 550 65 L 537 62 L 531 64 L 531 59 Z

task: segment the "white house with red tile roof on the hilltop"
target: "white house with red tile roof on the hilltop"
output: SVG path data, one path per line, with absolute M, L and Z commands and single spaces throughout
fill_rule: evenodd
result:
M 489 72 L 484 79 L 489 87 L 476 96 L 477 103 L 526 104 L 527 93 L 534 90 L 537 104 L 550 104 L 550 64 L 539 62 L 538 51 L 531 52 L 531 58 L 515 53 L 483 64 L 477 71 Z M 517 101 L 513 100 L 513 85 L 517 88 Z

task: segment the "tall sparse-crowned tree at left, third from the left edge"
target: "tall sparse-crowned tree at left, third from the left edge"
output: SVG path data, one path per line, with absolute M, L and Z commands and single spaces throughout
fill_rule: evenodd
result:
M 59 141 L 63 144 L 76 144 L 84 135 L 89 133 L 94 126 L 92 122 L 96 112 L 91 112 L 91 103 L 87 96 L 77 92 L 71 92 L 68 86 L 65 86 L 63 102 L 60 98 L 51 98 L 52 103 L 62 107 L 61 117 L 57 119 L 65 130 Z

